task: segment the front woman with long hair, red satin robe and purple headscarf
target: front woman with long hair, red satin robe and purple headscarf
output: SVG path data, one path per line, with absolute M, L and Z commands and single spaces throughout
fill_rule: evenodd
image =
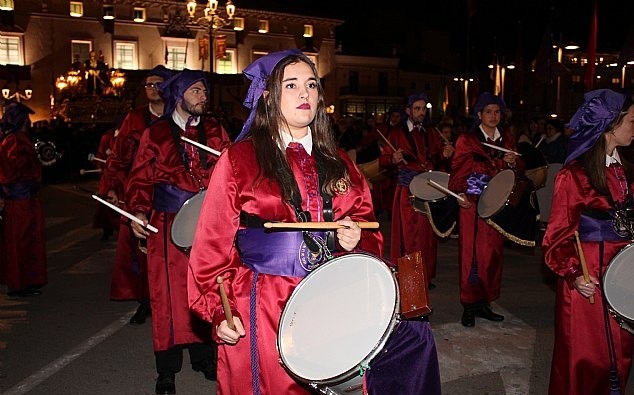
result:
M 337 149 L 312 61 L 296 49 L 273 52 L 244 73 L 252 81 L 244 102 L 251 113 L 210 181 L 210 188 L 222 186 L 226 193 L 205 196 L 191 251 L 189 301 L 220 344 L 219 393 L 308 395 L 314 392 L 279 363 L 282 309 L 302 278 L 329 255 L 366 251 L 380 257 L 383 236 L 357 224 L 376 221 L 370 189 Z M 345 227 L 265 232 L 265 221 Z M 218 276 L 224 277 L 231 317 L 222 307 Z M 332 333 L 315 336 L 337 336 L 339 330 L 335 325 Z M 370 394 L 440 394 L 428 322 L 398 323 L 385 349 L 402 353 L 383 353 L 384 359 L 369 363 L 364 378 Z

